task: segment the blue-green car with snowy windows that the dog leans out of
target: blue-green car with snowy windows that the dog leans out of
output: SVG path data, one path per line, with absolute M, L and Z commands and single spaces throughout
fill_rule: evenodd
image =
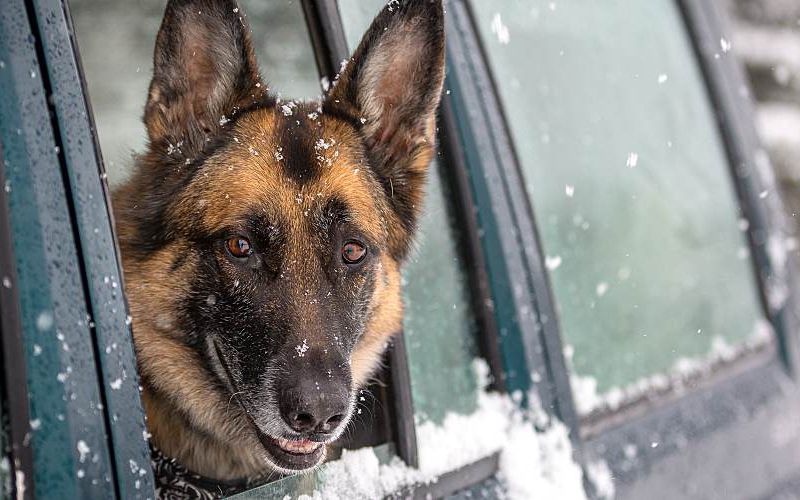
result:
M 386 2 L 241 3 L 267 79 L 302 97 Z M 0 9 L 4 497 L 154 495 L 109 193 L 162 11 Z M 716 5 L 446 11 L 404 331 L 340 457 L 235 497 L 800 491 L 794 241 Z

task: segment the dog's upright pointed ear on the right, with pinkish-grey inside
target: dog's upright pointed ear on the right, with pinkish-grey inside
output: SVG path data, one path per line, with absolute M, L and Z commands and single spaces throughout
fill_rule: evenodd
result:
M 435 144 L 444 46 L 442 0 L 391 1 L 324 103 L 361 129 L 372 168 L 412 226 Z

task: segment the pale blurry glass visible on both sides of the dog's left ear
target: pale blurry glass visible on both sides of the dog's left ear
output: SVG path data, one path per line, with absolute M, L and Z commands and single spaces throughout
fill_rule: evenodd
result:
M 288 98 L 316 97 L 319 75 L 300 3 L 239 2 L 253 29 L 261 74 Z M 72 0 L 81 61 L 112 187 L 144 148 L 142 124 L 163 0 Z M 124 56 L 123 56 L 124 54 Z

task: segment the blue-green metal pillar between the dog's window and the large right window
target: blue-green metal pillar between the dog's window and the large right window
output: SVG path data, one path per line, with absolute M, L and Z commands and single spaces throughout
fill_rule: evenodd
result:
M 534 390 L 573 439 L 577 413 L 549 277 L 521 168 L 486 52 L 466 0 L 448 5 L 449 96 L 479 207 L 509 391 Z M 506 306 L 506 310 L 501 307 Z

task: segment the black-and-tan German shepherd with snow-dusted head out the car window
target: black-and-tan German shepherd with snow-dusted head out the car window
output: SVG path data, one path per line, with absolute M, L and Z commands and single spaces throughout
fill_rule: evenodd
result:
M 168 2 L 113 197 L 165 455 L 218 480 L 324 460 L 401 328 L 443 79 L 441 0 L 390 2 L 314 102 L 270 94 L 234 0 Z

